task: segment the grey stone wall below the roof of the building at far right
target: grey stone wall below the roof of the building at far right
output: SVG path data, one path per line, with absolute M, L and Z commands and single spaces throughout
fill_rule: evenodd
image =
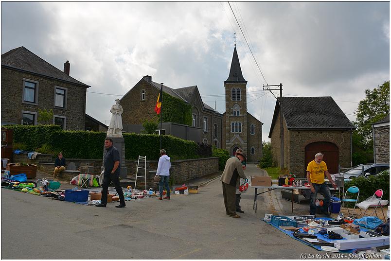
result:
M 390 163 L 390 125 L 374 127 L 375 163 Z

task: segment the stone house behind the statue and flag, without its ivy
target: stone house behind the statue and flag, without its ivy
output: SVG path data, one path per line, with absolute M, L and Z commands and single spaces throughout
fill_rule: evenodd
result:
M 156 117 L 154 111 L 161 85 L 146 75 L 122 97 L 120 104 L 124 108 L 122 123 L 141 124 L 145 119 Z M 173 89 L 163 85 L 163 91 L 186 104 L 192 105 L 192 126 L 201 128 L 198 142 L 221 147 L 223 115 L 202 102 L 197 86 Z M 164 101 L 162 103 L 164 113 Z M 174 134 L 173 134 L 174 135 Z

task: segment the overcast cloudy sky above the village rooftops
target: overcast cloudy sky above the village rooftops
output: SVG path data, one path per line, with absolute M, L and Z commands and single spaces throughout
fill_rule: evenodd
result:
M 331 96 L 352 121 L 365 89 L 390 79 L 389 2 L 230 3 L 266 81 L 228 2 L 1 2 L 1 53 L 24 46 L 60 70 L 69 60 L 70 75 L 91 86 L 86 113 L 108 125 L 114 100 L 146 74 L 172 88 L 197 85 L 223 113 L 236 32 L 264 140 L 276 100 L 263 84 L 282 83 L 284 96 Z

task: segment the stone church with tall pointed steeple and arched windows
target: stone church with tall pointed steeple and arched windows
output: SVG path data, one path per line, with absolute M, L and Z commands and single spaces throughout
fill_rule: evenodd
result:
M 247 154 L 249 162 L 262 157 L 263 123 L 247 111 L 247 81 L 240 68 L 236 45 L 233 49 L 230 74 L 224 82 L 225 106 L 223 137 L 224 146 L 231 155 L 238 148 Z

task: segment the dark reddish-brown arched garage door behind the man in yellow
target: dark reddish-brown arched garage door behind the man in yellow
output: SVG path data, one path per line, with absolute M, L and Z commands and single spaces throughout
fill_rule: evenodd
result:
M 326 141 L 314 142 L 305 146 L 305 170 L 311 160 L 315 159 L 315 154 L 324 154 L 323 160 L 327 164 L 330 174 L 338 173 L 338 147 L 336 144 Z

